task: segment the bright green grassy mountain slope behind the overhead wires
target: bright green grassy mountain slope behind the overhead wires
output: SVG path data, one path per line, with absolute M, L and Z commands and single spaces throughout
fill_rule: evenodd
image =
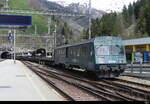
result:
M 33 4 L 32 0 L 9 0 L 9 7 L 16 8 L 16 9 L 35 9 L 35 5 L 39 7 L 39 4 Z M 39 7 L 39 9 L 41 9 Z M 29 15 L 29 14 L 24 14 Z M 35 25 L 37 26 L 37 33 L 45 34 L 48 31 L 47 28 L 47 17 L 42 15 L 32 15 L 33 24 L 32 27 L 25 30 L 26 34 L 34 34 L 35 32 Z

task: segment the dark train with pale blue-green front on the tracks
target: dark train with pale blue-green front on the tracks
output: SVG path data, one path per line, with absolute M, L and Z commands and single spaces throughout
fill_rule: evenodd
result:
M 42 58 L 35 55 L 40 51 L 45 56 L 46 52 L 41 49 L 33 52 L 32 57 Z M 115 78 L 127 69 L 123 41 L 113 36 L 96 37 L 56 47 L 51 60 L 46 61 L 67 69 L 78 68 L 87 73 L 94 73 L 98 78 Z

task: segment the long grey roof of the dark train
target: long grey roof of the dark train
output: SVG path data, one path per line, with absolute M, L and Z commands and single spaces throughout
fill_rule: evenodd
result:
M 77 43 L 73 43 L 73 44 L 67 44 L 67 45 L 63 45 L 63 46 L 59 46 L 55 49 L 59 49 L 59 48 L 66 48 L 66 47 L 71 47 L 71 46 L 77 46 L 77 45 L 82 45 L 82 44 L 86 44 L 86 43 L 92 43 L 94 42 L 96 39 L 107 39 L 107 38 L 113 38 L 113 39 L 121 39 L 119 37 L 113 37 L 113 36 L 102 36 L 102 37 L 96 37 L 96 38 L 92 38 L 90 40 L 84 40 L 81 42 L 77 42 Z

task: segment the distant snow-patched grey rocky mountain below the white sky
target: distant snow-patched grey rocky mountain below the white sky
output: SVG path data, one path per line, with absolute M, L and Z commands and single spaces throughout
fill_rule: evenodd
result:
M 47 0 L 37 0 L 40 2 L 45 9 L 54 9 L 57 10 L 57 12 L 65 12 L 65 13 L 79 13 L 79 14 L 88 14 L 88 7 L 86 5 L 80 5 L 79 3 L 72 3 L 66 7 L 59 5 L 55 2 L 50 2 Z M 96 10 L 92 8 L 91 10 L 91 15 L 92 18 L 101 18 L 105 14 L 104 11 L 101 10 Z M 67 18 L 68 19 L 68 18 Z M 88 25 L 88 18 L 83 17 L 83 18 L 70 18 L 74 23 L 80 25 L 83 28 L 87 28 Z M 76 25 L 75 24 L 75 25 Z

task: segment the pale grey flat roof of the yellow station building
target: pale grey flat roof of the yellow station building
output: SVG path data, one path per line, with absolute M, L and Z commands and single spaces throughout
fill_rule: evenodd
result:
M 123 42 L 125 46 L 150 44 L 150 37 L 124 40 Z

